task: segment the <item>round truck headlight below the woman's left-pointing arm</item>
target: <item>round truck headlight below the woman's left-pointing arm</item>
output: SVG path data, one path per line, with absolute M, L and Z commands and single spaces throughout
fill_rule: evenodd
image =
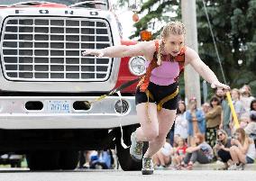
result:
M 134 76 L 142 76 L 146 73 L 145 67 L 146 59 L 142 56 L 132 57 L 129 60 L 129 70 Z

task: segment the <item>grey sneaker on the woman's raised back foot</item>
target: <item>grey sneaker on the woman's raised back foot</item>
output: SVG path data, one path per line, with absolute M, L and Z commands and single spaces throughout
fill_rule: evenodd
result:
M 136 140 L 136 133 L 133 132 L 131 135 L 131 147 L 130 147 L 130 154 L 134 161 L 141 161 L 142 160 L 142 149 L 143 149 L 143 142 L 139 142 Z

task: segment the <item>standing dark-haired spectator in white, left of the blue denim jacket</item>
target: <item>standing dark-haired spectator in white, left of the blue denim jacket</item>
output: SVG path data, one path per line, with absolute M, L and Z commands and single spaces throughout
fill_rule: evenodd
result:
M 174 134 L 179 134 L 182 139 L 187 140 L 187 119 L 186 104 L 184 101 L 178 102 L 177 116 L 175 119 Z

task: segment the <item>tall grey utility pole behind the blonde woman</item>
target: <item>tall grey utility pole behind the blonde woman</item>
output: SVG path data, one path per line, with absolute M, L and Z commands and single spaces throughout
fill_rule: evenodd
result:
M 196 0 L 181 0 L 182 22 L 186 26 L 185 43 L 198 52 L 197 48 L 197 11 Z M 201 105 L 200 78 L 192 66 L 187 65 L 184 72 L 186 103 L 189 98 L 197 98 L 197 107 Z

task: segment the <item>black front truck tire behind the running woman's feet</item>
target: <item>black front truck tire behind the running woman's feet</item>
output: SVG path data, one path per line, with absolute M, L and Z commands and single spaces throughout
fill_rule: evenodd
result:
M 123 142 L 127 145 L 131 145 L 131 134 L 139 125 L 131 125 L 131 126 L 124 126 L 123 127 Z M 119 161 L 120 166 L 124 171 L 133 171 L 133 170 L 141 170 L 142 169 L 142 161 L 136 162 L 130 156 L 130 149 L 123 149 L 121 145 L 121 131 L 120 128 L 117 128 L 115 134 L 115 145 L 116 145 L 116 154 Z M 148 149 L 148 143 L 144 142 L 143 146 L 143 154 Z

